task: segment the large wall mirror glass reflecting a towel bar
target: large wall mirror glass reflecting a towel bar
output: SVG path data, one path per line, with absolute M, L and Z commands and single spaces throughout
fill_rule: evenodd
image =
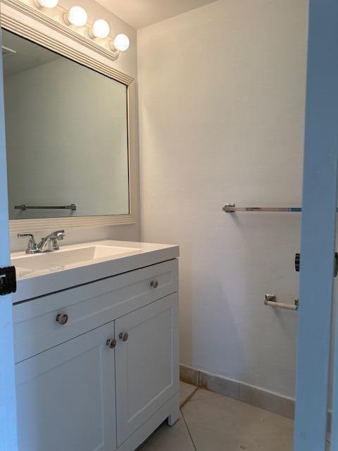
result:
M 11 228 L 132 222 L 132 80 L 2 37 Z

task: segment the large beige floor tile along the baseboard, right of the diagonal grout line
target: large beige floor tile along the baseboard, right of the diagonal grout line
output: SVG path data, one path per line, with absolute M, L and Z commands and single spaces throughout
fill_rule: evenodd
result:
M 189 401 L 182 409 L 197 451 L 289 451 L 293 424 L 228 397 Z

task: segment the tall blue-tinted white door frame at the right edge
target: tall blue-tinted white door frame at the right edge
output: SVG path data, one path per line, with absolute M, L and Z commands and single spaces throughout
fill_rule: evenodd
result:
M 310 0 L 309 13 L 294 451 L 325 451 L 337 218 L 338 2 Z M 337 428 L 333 432 L 336 451 Z

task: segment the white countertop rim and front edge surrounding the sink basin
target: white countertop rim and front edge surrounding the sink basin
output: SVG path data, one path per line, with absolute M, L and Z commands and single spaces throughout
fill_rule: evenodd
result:
M 38 271 L 20 271 L 17 269 L 17 291 L 13 293 L 13 303 L 39 297 L 51 292 L 65 290 L 77 285 L 92 282 L 116 274 L 133 271 L 137 268 L 161 263 L 179 257 L 180 250 L 175 245 L 161 245 L 146 242 L 104 240 L 86 242 L 79 245 L 63 246 L 60 253 L 72 249 L 81 249 L 88 246 L 130 247 L 125 254 L 96 259 L 95 261 L 81 261 L 76 264 L 65 264 Z M 42 255 L 42 254 L 39 254 Z M 13 252 L 11 259 L 27 257 L 25 252 Z M 15 260 L 12 261 L 15 264 Z

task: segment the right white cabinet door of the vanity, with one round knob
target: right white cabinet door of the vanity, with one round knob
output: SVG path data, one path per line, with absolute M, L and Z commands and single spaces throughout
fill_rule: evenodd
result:
M 118 446 L 179 390 L 177 296 L 115 321 Z

